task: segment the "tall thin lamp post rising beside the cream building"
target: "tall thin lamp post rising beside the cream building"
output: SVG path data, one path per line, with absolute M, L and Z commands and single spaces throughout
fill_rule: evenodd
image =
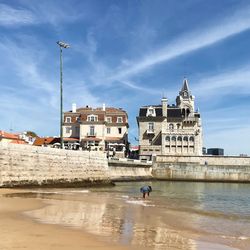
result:
M 60 144 L 63 148 L 63 62 L 62 62 L 62 49 L 69 48 L 69 44 L 64 42 L 56 42 L 60 47 Z

